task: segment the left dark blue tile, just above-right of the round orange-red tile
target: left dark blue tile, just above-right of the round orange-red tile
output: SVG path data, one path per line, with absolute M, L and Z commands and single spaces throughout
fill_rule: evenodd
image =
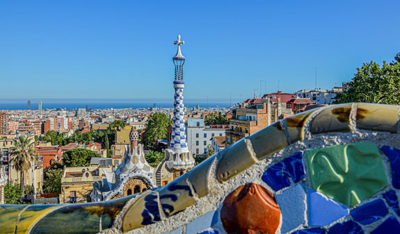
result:
M 285 164 L 283 162 L 278 162 L 266 169 L 266 172 L 262 174 L 262 181 L 267 183 L 269 187 L 273 190 L 278 191 L 282 190 L 282 188 L 290 185 L 289 178 L 283 174 L 283 168 Z

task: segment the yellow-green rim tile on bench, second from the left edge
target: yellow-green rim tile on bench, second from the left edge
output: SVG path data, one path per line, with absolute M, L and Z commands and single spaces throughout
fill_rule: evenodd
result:
M 29 233 L 31 227 L 38 222 L 38 220 L 47 215 L 49 212 L 60 207 L 61 206 L 51 205 L 29 206 L 29 208 L 22 212 L 22 215 L 19 218 L 17 233 Z

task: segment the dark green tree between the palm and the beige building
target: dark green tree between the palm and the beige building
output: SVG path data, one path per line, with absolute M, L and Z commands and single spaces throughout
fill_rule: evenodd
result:
M 61 194 L 61 178 L 63 178 L 63 166 L 59 163 L 54 163 L 45 172 L 43 190 L 47 193 Z

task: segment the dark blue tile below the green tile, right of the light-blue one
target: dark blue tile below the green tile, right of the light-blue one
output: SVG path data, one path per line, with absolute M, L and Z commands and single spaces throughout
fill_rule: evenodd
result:
M 382 219 L 387 212 L 385 202 L 382 199 L 376 199 L 351 210 L 350 213 L 355 222 L 366 225 Z

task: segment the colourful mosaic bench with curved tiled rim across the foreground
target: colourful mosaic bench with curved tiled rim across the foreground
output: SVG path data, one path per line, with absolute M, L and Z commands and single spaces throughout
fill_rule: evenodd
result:
M 0 206 L 1 233 L 399 233 L 399 106 L 303 112 L 164 187 L 103 203 Z

